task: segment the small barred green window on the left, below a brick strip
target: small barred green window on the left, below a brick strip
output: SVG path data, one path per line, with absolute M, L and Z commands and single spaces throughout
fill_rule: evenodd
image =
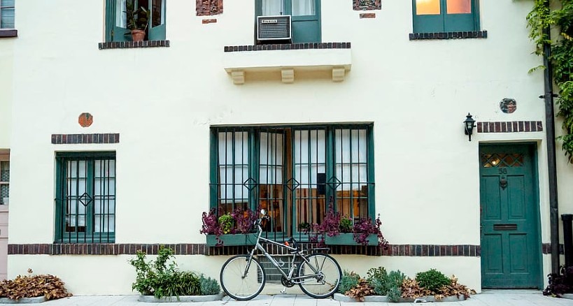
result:
M 55 242 L 115 242 L 115 152 L 57 152 Z

